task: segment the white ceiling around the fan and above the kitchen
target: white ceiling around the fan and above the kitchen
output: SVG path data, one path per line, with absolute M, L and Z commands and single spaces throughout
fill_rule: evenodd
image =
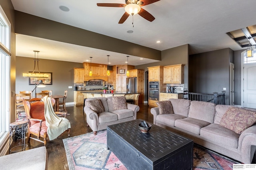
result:
M 118 21 L 124 8 L 98 7 L 97 3 L 120 3 L 125 0 L 11 0 L 15 10 L 60 23 L 72 25 L 117 39 L 136 43 L 157 50 L 189 44 L 190 54 L 223 48 L 242 49 L 226 33 L 256 24 L 256 0 L 160 0 L 142 8 L 156 19 L 152 22 L 139 15 L 123 24 Z M 146 1 L 146 0 L 142 0 Z M 59 6 L 67 6 L 63 12 Z M 128 30 L 134 31 L 127 33 Z M 156 43 L 161 41 L 161 43 Z M 107 42 L 106 42 L 107 43 Z M 245 48 L 246 49 L 246 48 Z M 39 58 L 110 65 L 126 64 L 126 54 L 114 53 L 27 35 L 16 36 L 16 55 Z M 106 57 L 102 59 L 103 57 Z M 152 59 L 129 57 L 129 64 L 140 65 L 156 62 Z

